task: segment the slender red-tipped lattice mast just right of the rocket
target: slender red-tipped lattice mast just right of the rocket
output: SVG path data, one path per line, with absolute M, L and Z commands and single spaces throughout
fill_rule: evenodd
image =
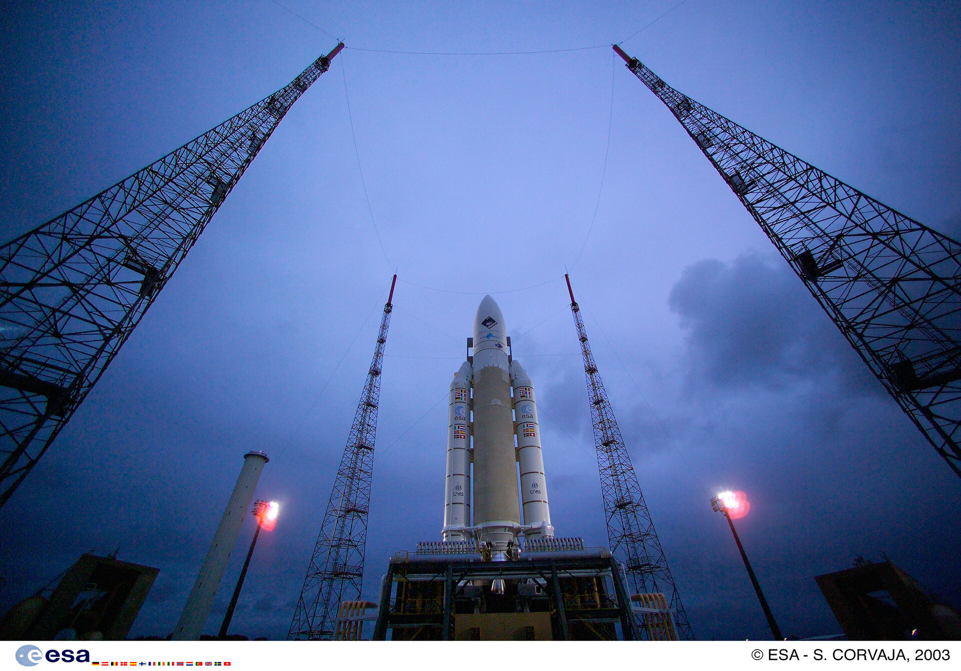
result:
M 687 613 L 680 603 L 678 588 L 664 557 L 651 512 L 644 501 L 641 485 L 637 482 L 634 466 L 624 444 L 624 437 L 617 425 L 614 410 L 610 407 L 604 382 L 587 340 L 580 307 L 574 300 L 571 280 L 565 275 L 567 290 L 571 295 L 571 312 L 578 328 L 580 353 L 584 359 L 584 376 L 587 378 L 587 396 L 591 405 L 591 424 L 594 427 L 594 447 L 598 453 L 601 471 L 601 491 L 604 495 L 604 515 L 607 518 L 607 542 L 610 551 L 624 564 L 628 584 L 634 594 L 662 592 L 668 604 L 675 609 L 678 637 L 693 640 L 694 632 Z

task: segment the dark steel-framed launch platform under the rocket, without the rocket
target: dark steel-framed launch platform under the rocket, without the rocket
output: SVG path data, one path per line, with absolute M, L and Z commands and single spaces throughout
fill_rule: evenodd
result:
M 491 560 L 474 541 L 420 543 L 383 577 L 374 640 L 636 640 L 622 569 L 605 548 L 550 538 Z M 671 625 L 667 610 L 657 616 Z M 671 627 L 673 632 L 673 626 Z

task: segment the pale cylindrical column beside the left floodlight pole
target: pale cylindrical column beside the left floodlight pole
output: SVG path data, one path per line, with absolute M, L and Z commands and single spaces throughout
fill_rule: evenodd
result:
M 248 452 L 244 455 L 243 468 L 240 469 L 240 477 L 234 485 L 234 493 L 224 510 L 217 533 L 213 534 L 207 559 L 204 559 L 204 564 L 200 567 L 197 582 L 190 590 L 184 612 L 174 629 L 174 640 L 198 640 L 200 634 L 203 634 L 213 597 L 216 596 L 220 580 L 224 577 L 227 562 L 231 559 L 231 552 L 240 535 L 240 525 L 250 509 L 260 473 L 267 461 L 267 455 L 262 452 Z

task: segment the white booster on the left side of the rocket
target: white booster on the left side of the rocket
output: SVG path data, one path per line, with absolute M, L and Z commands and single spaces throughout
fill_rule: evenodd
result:
M 464 361 L 451 383 L 447 425 L 447 483 L 444 497 L 444 540 L 466 540 L 471 526 L 471 379 Z

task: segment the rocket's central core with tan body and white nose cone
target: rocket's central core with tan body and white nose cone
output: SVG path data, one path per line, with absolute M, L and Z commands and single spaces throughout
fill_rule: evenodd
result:
M 521 529 L 512 405 L 504 314 L 484 296 L 474 317 L 473 504 L 476 537 L 493 545 L 494 559 L 505 559 Z

